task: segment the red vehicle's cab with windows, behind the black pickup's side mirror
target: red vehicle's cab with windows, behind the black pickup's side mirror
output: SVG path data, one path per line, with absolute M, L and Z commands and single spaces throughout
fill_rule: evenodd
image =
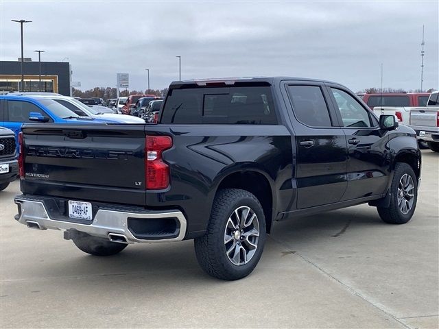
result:
M 427 106 L 429 95 L 430 93 L 367 93 L 363 96 L 363 101 L 372 110 L 375 106 Z

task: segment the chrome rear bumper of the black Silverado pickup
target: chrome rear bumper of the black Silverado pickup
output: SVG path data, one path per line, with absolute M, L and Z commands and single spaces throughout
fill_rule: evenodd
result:
M 39 230 L 78 230 L 93 236 L 110 239 L 110 241 L 120 243 L 155 243 L 181 241 L 185 238 L 187 221 L 185 216 L 179 210 L 169 211 L 142 211 L 126 212 L 118 210 L 97 210 L 91 223 L 77 223 L 74 221 L 63 221 L 52 219 L 42 201 L 27 199 L 25 196 L 17 196 L 14 202 L 19 207 L 19 214 L 15 219 L 29 228 Z M 142 239 L 134 236 L 129 228 L 128 219 L 140 219 L 147 223 L 148 220 L 174 219 L 176 221 L 176 231 L 172 237 L 161 235 L 154 236 L 154 239 Z

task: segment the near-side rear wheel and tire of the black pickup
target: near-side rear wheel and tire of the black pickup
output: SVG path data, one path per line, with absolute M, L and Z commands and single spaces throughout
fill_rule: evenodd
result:
M 265 245 L 265 216 L 252 193 L 218 191 L 204 236 L 194 241 L 198 263 L 210 276 L 238 280 L 250 274 Z

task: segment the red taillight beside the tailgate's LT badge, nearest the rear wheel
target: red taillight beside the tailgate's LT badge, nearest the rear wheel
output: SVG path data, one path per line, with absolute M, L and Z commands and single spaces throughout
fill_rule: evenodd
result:
M 172 147 L 169 136 L 146 136 L 145 180 L 149 190 L 161 190 L 169 186 L 169 166 L 162 160 L 162 152 Z

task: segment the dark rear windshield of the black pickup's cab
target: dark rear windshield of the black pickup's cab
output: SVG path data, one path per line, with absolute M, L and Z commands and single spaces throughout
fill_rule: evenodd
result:
M 161 123 L 275 125 L 270 87 L 169 90 Z

